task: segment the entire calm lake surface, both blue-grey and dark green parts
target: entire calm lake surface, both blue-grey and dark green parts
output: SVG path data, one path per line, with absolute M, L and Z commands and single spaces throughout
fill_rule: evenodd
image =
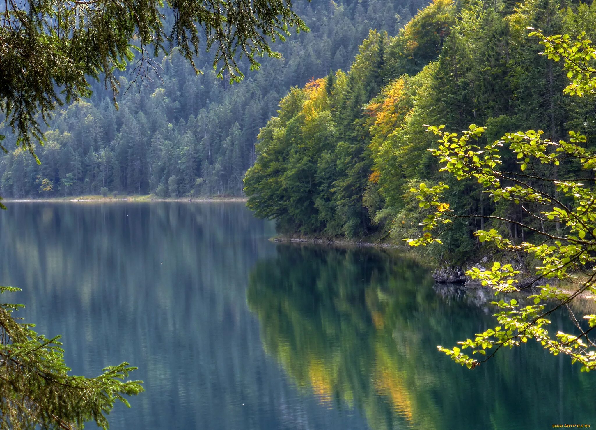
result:
M 566 358 L 436 352 L 489 326 L 491 296 L 391 252 L 275 244 L 242 203 L 7 206 L 0 285 L 23 292 L 3 301 L 64 336 L 73 374 L 139 367 L 112 429 L 596 426 L 596 375 Z

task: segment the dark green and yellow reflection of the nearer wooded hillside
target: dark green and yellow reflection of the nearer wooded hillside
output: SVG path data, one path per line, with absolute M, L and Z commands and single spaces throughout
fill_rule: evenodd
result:
M 569 360 L 530 345 L 470 371 L 438 354 L 488 326 L 491 297 L 434 286 L 391 253 L 280 245 L 247 298 L 263 347 L 303 395 L 361 411 L 371 429 L 596 424 L 594 375 Z

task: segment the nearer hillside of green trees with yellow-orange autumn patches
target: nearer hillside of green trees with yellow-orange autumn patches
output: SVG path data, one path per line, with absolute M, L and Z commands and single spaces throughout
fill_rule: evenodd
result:
M 401 240 L 420 234 L 426 213 L 412 188 L 442 181 L 458 215 L 525 221 L 529 215 L 519 202 L 495 202 L 479 184 L 440 173 L 439 159 L 427 151 L 438 146 L 437 137 L 426 125 L 449 131 L 485 126 L 480 146 L 527 129 L 544 130 L 554 141 L 567 130 L 593 140 L 594 95 L 563 94 L 563 64 L 539 55 L 544 48 L 529 36 L 530 26 L 547 35 L 594 36 L 596 6 L 435 0 L 396 36 L 371 31 L 347 72 L 312 80 L 283 98 L 278 116 L 260 132 L 257 160 L 246 175 L 250 208 L 276 219 L 282 233 Z M 511 171 L 524 160 L 502 162 Z M 542 169 L 564 179 L 578 166 L 561 162 Z M 466 259 L 480 247 L 473 232 L 486 230 L 485 224 L 455 219 L 441 236 L 444 246 L 429 248 Z M 528 233 L 515 224 L 500 227 L 509 229 L 514 243 Z

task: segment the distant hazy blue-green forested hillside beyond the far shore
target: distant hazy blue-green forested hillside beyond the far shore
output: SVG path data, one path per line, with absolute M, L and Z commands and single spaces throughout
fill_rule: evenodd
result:
M 0 122 L 0 196 L 55 197 L 99 194 L 150 194 L 160 197 L 240 195 L 246 169 L 256 159 L 259 129 L 275 115 L 281 97 L 293 85 L 345 69 L 369 29 L 395 33 L 424 0 L 343 0 L 297 2 L 296 13 L 311 31 L 274 44 L 277 58 L 238 65 L 246 78 L 217 79 L 210 55 L 202 55 L 195 75 L 176 49 L 154 58 L 150 79 L 136 79 L 132 61 L 118 72 L 119 110 L 111 89 L 92 83 L 91 98 L 59 108 L 36 149 L 38 166 L 27 151 L 16 149 L 7 122 Z M 167 15 L 166 26 L 173 16 Z

